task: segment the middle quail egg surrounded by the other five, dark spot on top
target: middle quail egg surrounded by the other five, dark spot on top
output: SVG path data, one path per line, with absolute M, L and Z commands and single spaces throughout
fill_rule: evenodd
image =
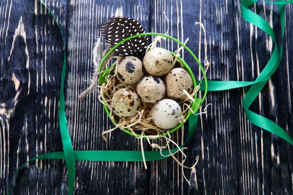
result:
M 136 87 L 137 94 L 146 103 L 156 103 L 165 95 L 165 84 L 161 78 L 146 76 L 142 78 Z

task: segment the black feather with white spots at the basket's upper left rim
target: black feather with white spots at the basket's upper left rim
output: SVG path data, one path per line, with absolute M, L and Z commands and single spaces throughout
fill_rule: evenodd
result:
M 132 18 L 110 18 L 101 28 L 101 33 L 107 44 L 113 47 L 121 40 L 132 35 L 145 33 L 143 26 Z M 147 36 L 129 39 L 115 49 L 120 56 L 137 56 L 143 58 L 147 48 Z

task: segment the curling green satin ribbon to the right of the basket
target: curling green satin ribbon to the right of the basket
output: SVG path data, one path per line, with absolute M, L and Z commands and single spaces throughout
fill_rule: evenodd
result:
M 264 20 L 263 18 L 261 18 L 260 16 L 258 16 L 257 14 L 255 14 L 254 12 L 248 9 L 256 1 L 258 0 L 241 1 L 240 2 L 241 16 L 244 20 L 247 20 L 248 22 L 262 29 L 272 38 L 272 40 L 275 43 L 275 46 L 272 52 L 271 59 L 268 61 L 267 65 L 265 66 L 263 71 L 259 74 L 259 76 L 255 79 L 255 81 L 211 81 L 210 80 L 208 81 L 209 91 L 222 91 L 222 90 L 235 89 L 235 88 L 251 85 L 251 88 L 248 90 L 248 92 L 246 93 L 242 101 L 244 112 L 246 114 L 247 119 L 252 124 L 285 139 L 287 142 L 293 145 L 292 138 L 279 125 L 274 123 L 272 120 L 262 117 L 249 110 L 249 107 L 251 106 L 252 102 L 258 96 L 260 91 L 263 89 L 265 84 L 268 82 L 268 80 L 271 78 L 271 76 L 277 70 L 280 64 L 282 54 L 283 54 L 283 39 L 284 39 L 284 32 L 285 32 L 285 5 L 284 4 L 291 3 L 293 2 L 293 0 L 270 2 L 270 3 L 278 4 L 279 16 L 281 21 L 281 31 L 282 31 L 282 43 L 281 43 L 280 51 L 278 50 L 278 47 L 277 47 L 277 40 L 275 37 L 275 33 L 272 27 L 270 26 L 270 24 L 266 20 Z M 266 2 L 269 2 L 269 1 L 266 1 Z M 204 89 L 204 87 L 205 87 L 205 83 L 202 83 L 200 89 Z

